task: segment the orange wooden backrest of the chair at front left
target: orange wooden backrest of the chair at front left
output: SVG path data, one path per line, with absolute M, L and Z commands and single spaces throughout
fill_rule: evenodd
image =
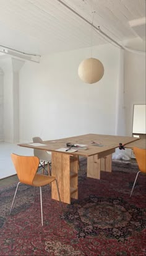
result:
M 40 159 L 36 156 L 19 156 L 17 154 L 11 154 L 11 159 L 20 182 L 32 185 Z

